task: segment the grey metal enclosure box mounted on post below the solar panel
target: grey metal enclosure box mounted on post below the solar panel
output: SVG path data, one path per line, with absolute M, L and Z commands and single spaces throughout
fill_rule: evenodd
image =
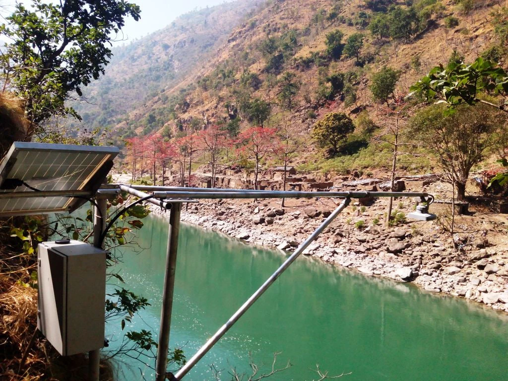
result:
M 71 240 L 39 244 L 37 328 L 62 356 L 104 346 L 106 251 Z

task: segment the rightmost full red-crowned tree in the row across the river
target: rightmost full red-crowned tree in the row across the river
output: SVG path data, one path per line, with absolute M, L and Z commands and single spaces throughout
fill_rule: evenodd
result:
M 239 153 L 250 160 L 255 161 L 254 189 L 258 189 L 258 175 L 260 161 L 266 154 L 272 151 L 276 145 L 277 136 L 275 129 L 263 127 L 250 127 L 238 135 Z

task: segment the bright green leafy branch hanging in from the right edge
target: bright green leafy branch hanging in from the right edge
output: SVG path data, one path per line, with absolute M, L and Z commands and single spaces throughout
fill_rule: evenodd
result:
M 428 75 L 411 86 L 409 96 L 417 95 L 426 101 L 444 101 L 450 107 L 444 109 L 453 113 L 454 107 L 464 103 L 485 105 L 508 112 L 505 105 L 498 105 L 479 97 L 482 92 L 491 94 L 508 93 L 508 74 L 494 62 L 482 57 L 470 65 L 462 60 L 452 61 L 446 68 L 434 67 Z

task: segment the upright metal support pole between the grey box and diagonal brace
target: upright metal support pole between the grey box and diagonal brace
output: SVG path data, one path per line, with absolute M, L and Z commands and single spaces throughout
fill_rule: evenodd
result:
M 168 252 L 166 257 L 166 274 L 164 276 L 161 329 L 159 331 L 158 351 L 155 367 L 156 381 L 164 381 L 166 379 L 169 334 L 171 328 L 171 311 L 173 309 L 173 292 L 175 289 L 176 255 L 178 250 L 178 232 L 180 230 L 181 207 L 181 203 L 172 204 L 169 217 Z

